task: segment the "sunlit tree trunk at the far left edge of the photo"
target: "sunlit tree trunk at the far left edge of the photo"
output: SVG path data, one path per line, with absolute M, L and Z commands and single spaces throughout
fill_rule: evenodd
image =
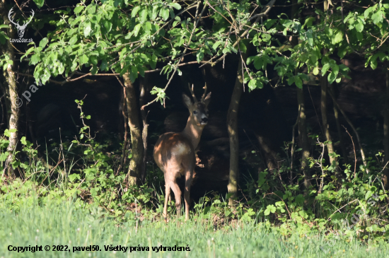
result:
M 4 23 L 6 25 L 9 25 L 10 22 L 8 20 L 8 10 L 6 10 L 6 6 L 4 1 L 0 1 L 0 13 L 1 16 L 4 19 Z M 13 38 L 15 35 L 15 28 L 11 27 L 8 29 L 8 37 Z M 6 45 L 1 45 L 1 53 L 8 55 L 9 59 L 15 60 L 15 54 L 13 52 L 13 47 L 11 45 L 11 42 L 7 41 Z M 7 106 L 7 112 L 8 114 L 8 129 L 11 132 L 11 136 L 9 137 L 9 145 L 7 148 L 7 151 L 9 152 L 9 155 L 6 160 L 7 172 L 8 176 L 14 177 L 15 172 L 12 168 L 12 161 L 14 152 L 16 151 L 16 147 L 18 144 L 18 129 L 19 129 L 19 117 L 20 117 L 20 110 L 19 107 L 21 106 L 21 99 L 18 98 L 18 86 L 16 83 L 16 76 L 14 73 L 14 63 L 13 65 L 8 64 L 6 66 L 6 69 L 3 72 L 4 78 L 5 78 L 5 85 L 4 85 L 4 91 L 6 94 L 6 106 Z

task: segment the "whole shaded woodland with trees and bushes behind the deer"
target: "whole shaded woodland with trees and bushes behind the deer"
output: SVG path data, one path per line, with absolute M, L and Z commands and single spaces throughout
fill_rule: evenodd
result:
M 389 4 L 9 0 L 0 13 L 1 184 L 64 178 L 112 213 L 137 198 L 159 209 L 153 146 L 184 129 L 188 85 L 200 98 L 207 84 L 193 204 L 319 226 L 378 193 L 368 213 L 386 218 Z M 31 16 L 33 43 L 11 42 Z

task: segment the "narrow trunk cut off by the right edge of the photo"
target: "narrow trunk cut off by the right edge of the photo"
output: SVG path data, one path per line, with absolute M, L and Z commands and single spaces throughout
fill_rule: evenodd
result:
M 383 183 L 385 189 L 389 188 L 389 71 L 385 69 L 386 74 L 386 94 L 385 94 L 385 107 L 383 109 L 383 146 L 385 151 L 383 165 L 386 165 L 383 170 Z

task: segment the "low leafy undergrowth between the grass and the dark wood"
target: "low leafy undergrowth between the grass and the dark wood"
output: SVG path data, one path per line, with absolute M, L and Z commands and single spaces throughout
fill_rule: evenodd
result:
M 76 102 L 81 110 L 82 100 Z M 161 224 L 162 172 L 149 164 L 144 184 L 127 185 L 126 170 L 118 171 L 116 156 L 105 153 L 106 146 L 93 139 L 85 122 L 90 117 L 82 110 L 81 119 L 83 127 L 79 137 L 58 146 L 53 144 L 46 160 L 39 158 L 33 144 L 23 137 L 22 148 L 13 153 L 11 164 L 21 174 L 18 179 L 7 177 L 5 173 L 9 154 L 6 151 L 9 131 L 5 131 L 0 138 L 1 210 L 21 214 L 25 209 L 22 207 L 71 201 L 74 211 L 99 207 L 104 217 L 113 218 L 118 225 Z M 319 137 L 317 146 L 318 150 L 323 146 Z M 376 159 L 368 158 L 368 167 L 361 165 L 355 171 L 348 164 L 343 168 L 325 165 L 323 152 L 318 153 L 317 159 L 310 160 L 313 183 L 308 189 L 301 187 L 301 172 L 291 168 L 293 158 L 286 159 L 277 170 L 263 170 L 256 177 L 246 179 L 236 199 L 236 209 L 228 206 L 228 194 L 207 194 L 192 205 L 192 221 L 206 223 L 216 231 L 232 230 L 247 223 L 268 230 L 273 227 L 272 230 L 283 238 L 321 234 L 323 238 L 336 236 L 344 241 L 358 239 L 366 245 L 388 240 L 389 199 L 381 182 L 382 153 L 378 153 Z M 48 165 L 53 161 L 49 160 L 53 154 L 58 160 L 55 165 Z M 252 156 L 256 156 L 255 151 Z M 171 218 L 174 218 L 174 207 L 168 206 Z

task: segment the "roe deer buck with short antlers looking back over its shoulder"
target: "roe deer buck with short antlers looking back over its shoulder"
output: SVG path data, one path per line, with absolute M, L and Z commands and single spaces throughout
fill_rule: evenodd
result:
M 182 94 L 182 100 L 190 112 L 184 131 L 162 134 L 154 147 L 154 160 L 156 160 L 158 167 L 161 168 L 165 175 L 166 196 L 165 205 L 163 206 L 163 217 L 165 219 L 168 216 L 170 188 L 173 189 L 175 196 L 177 217 L 180 216 L 181 190 L 176 180 L 181 175 L 185 175 L 185 221 L 189 219 L 190 184 L 192 183 L 194 165 L 196 163 L 194 150 L 197 148 L 202 130 L 208 122 L 209 112 L 207 107 L 211 100 L 211 93 L 208 93 L 206 96 L 207 83 L 204 86 L 204 95 L 202 95 L 200 102 L 197 101 L 193 89 L 190 87 L 189 89 L 194 102 L 190 100 L 190 97 Z

